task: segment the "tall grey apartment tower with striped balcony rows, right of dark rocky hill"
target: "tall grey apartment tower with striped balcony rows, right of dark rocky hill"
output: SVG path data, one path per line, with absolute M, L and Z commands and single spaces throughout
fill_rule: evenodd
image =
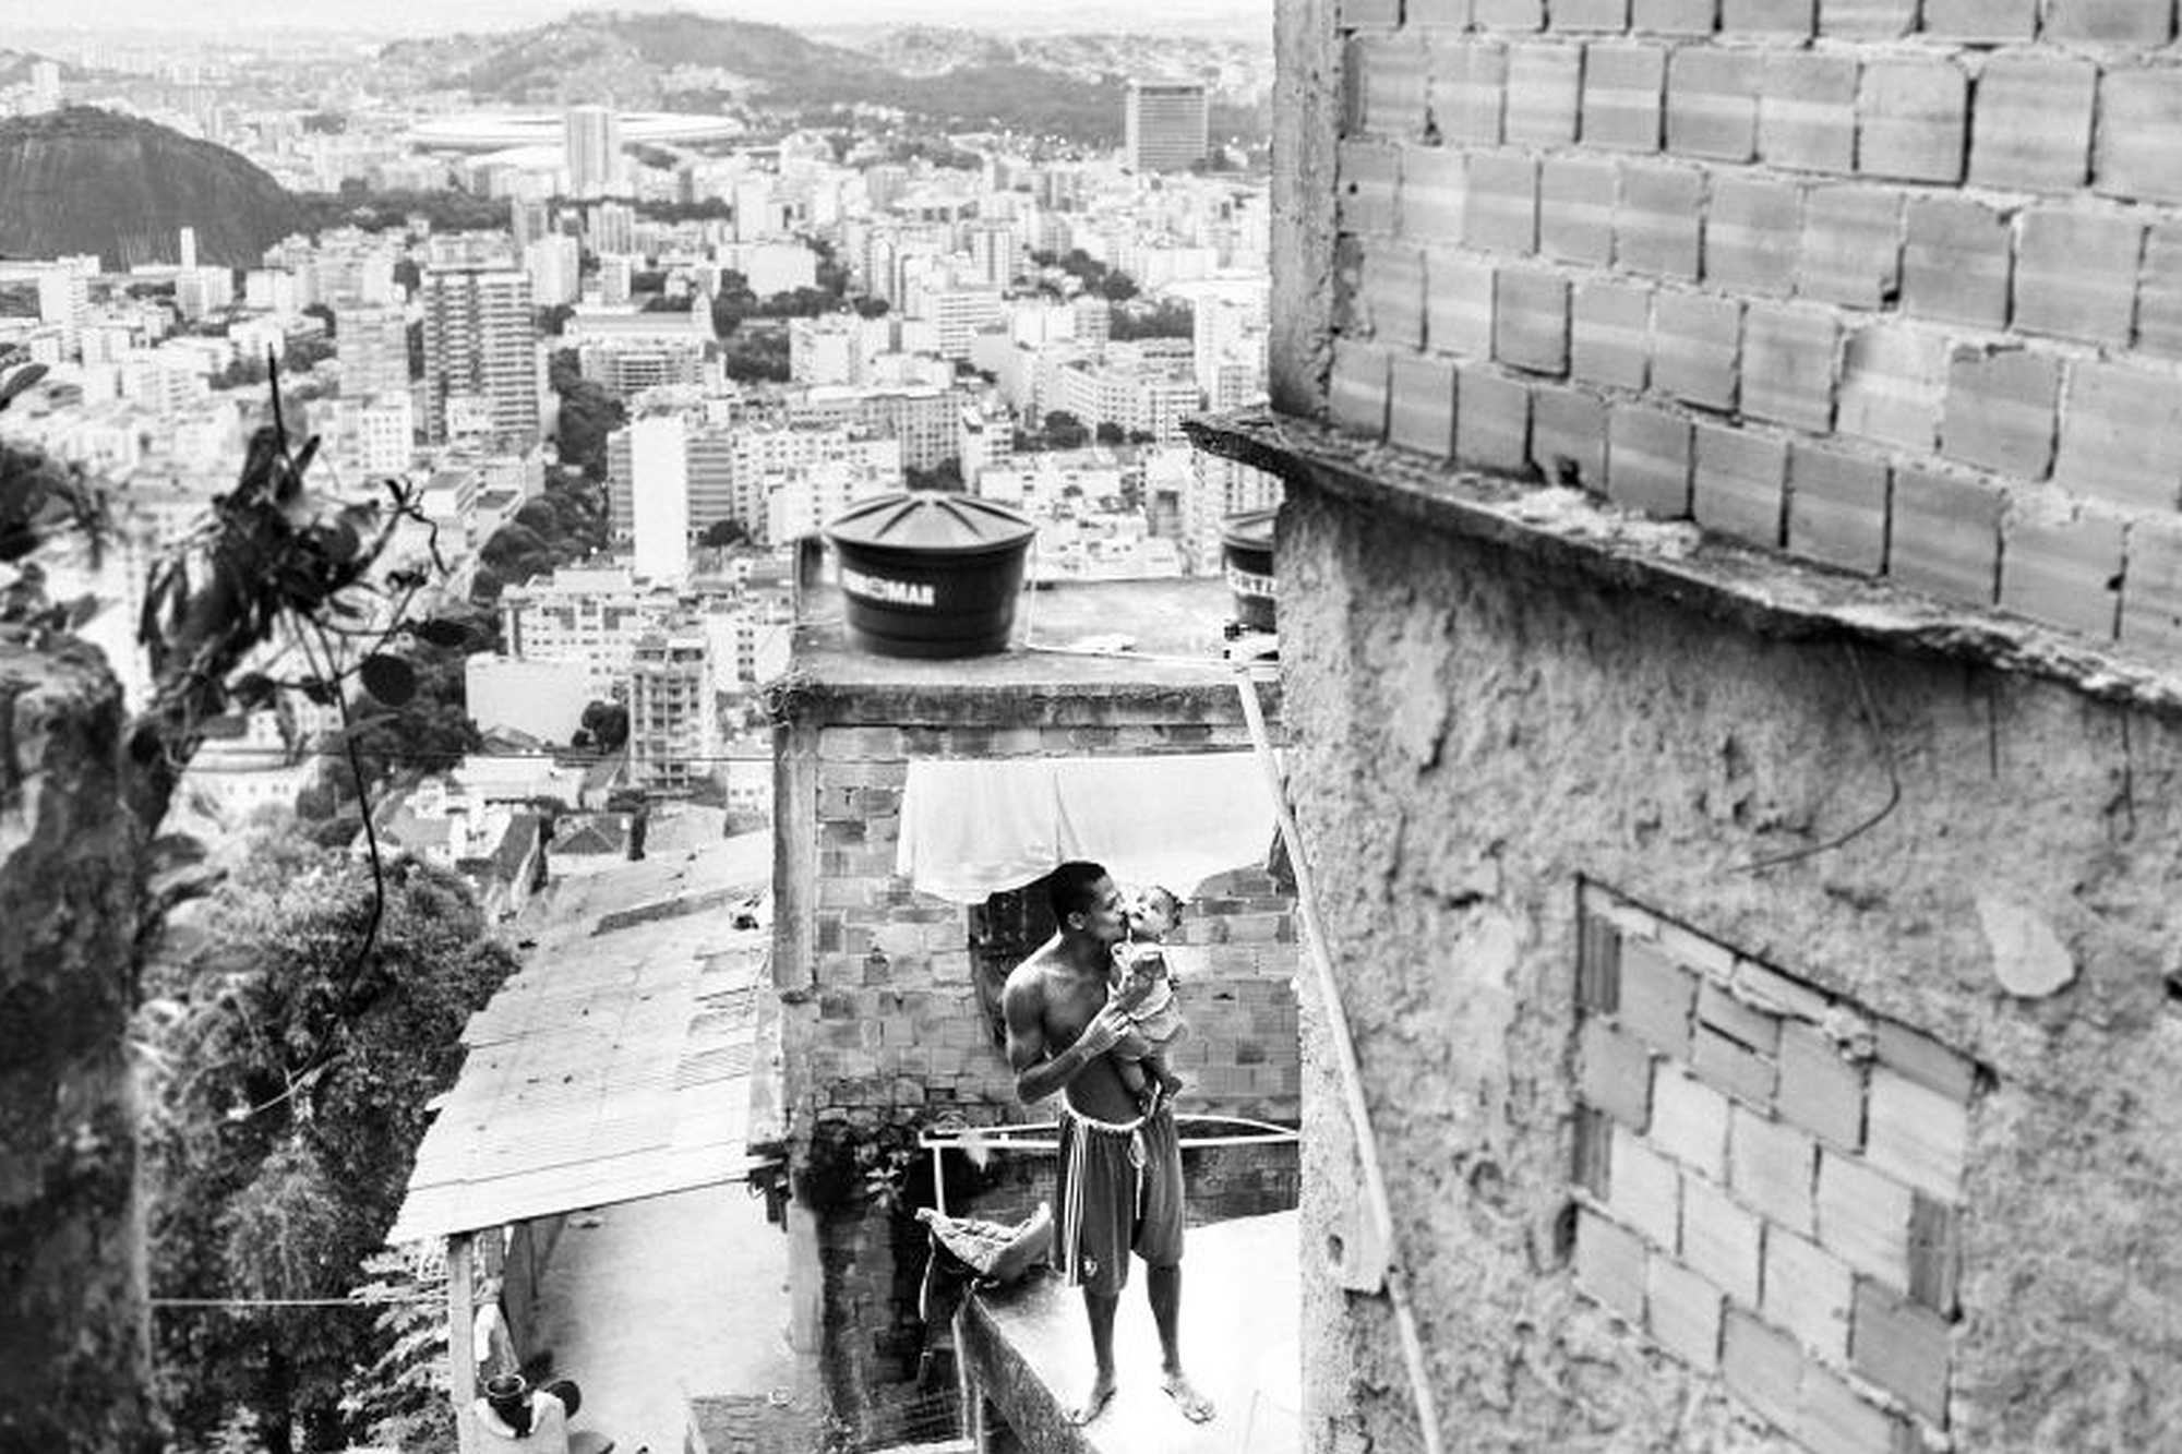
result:
M 449 413 L 482 410 L 495 441 L 539 439 L 537 321 L 519 269 L 430 269 L 423 275 L 425 439 L 447 441 Z

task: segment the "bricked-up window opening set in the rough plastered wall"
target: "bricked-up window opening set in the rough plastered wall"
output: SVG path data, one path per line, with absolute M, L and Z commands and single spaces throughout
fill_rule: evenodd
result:
M 1584 884 L 1575 1282 L 1809 1450 L 1949 1432 L 1977 1068 Z

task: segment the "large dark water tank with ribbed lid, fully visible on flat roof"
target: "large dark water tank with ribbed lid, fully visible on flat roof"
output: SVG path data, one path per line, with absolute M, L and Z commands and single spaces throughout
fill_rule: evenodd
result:
M 849 640 L 886 657 L 1006 651 L 1036 533 L 1002 504 L 938 489 L 849 506 L 825 528 Z

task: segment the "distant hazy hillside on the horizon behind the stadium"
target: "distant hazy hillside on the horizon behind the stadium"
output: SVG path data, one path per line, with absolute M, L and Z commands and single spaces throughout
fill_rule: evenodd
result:
M 467 90 L 480 103 L 611 98 L 652 107 L 674 105 L 676 92 L 731 94 L 740 105 L 786 114 L 873 105 L 958 129 L 1115 144 L 1122 138 L 1122 76 L 1139 70 L 1132 61 L 1141 59 L 1141 46 L 1126 37 L 1017 44 L 923 28 L 851 50 L 783 26 L 685 11 L 585 11 L 511 35 L 397 41 L 380 63 L 419 90 Z M 1202 68 L 1194 55 L 1185 63 L 1198 74 L 1244 70 L 1231 55 L 1239 48 L 1215 41 L 1202 48 Z M 1161 70 L 1174 68 L 1170 41 Z

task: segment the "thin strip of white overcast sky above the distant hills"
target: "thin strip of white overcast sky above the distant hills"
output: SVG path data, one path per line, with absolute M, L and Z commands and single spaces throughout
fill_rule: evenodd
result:
M 33 0 L 0 0 L 0 15 Z M 570 0 L 68 0 L 65 7 L 26 15 L 39 31 L 76 28 L 172 31 L 216 37 L 251 28 L 382 31 L 430 35 L 530 26 L 583 9 Z M 607 7 L 602 7 L 607 9 Z M 615 0 L 611 9 L 685 9 L 705 15 L 766 20 L 794 28 L 853 24 L 954 24 L 1002 31 L 1143 31 L 1198 28 L 1220 22 L 1272 22 L 1272 0 Z M 179 20 L 179 15 L 188 20 Z M 7 41 L 0 39 L 0 46 Z

